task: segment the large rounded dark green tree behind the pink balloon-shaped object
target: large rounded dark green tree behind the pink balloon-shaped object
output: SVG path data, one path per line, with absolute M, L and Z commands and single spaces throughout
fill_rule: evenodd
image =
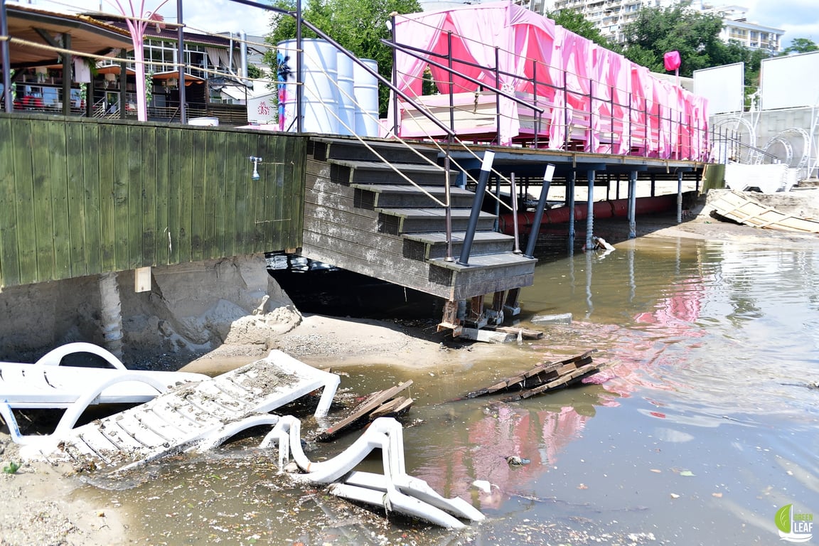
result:
M 623 54 L 631 61 L 664 72 L 663 56 L 678 51 L 681 76 L 695 70 L 742 60 L 739 46 L 729 47 L 719 38 L 722 18 L 688 9 L 687 4 L 642 8 L 636 20 L 624 25 Z

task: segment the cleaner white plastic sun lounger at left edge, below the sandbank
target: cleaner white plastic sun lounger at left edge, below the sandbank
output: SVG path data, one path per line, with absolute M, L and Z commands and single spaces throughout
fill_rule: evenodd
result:
M 62 366 L 71 354 L 95 354 L 107 368 Z M 11 438 L 21 444 L 42 436 L 23 436 L 13 410 L 66 408 L 52 435 L 75 425 L 93 404 L 143 404 L 171 387 L 209 377 L 188 372 L 129 370 L 111 352 L 90 343 L 62 345 L 36 363 L 0 362 L 0 416 Z M 39 440 L 34 440 L 39 441 Z

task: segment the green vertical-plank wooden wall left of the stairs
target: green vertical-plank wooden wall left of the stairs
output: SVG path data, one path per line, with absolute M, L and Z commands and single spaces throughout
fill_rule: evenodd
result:
M 301 246 L 307 139 L 0 113 L 0 287 Z M 251 180 L 259 156 L 260 180 Z

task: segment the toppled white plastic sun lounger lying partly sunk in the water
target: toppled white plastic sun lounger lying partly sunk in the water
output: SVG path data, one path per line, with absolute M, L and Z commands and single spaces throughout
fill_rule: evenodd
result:
M 426 481 L 409 476 L 404 464 L 403 429 L 391 417 L 373 421 L 358 440 L 336 457 L 320 463 L 310 462 L 301 449 L 301 422 L 296 417 L 281 417 L 265 436 L 260 447 L 278 443 L 278 463 L 292 453 L 306 481 L 331 484 L 329 491 L 339 497 L 383 507 L 438 526 L 460 529 L 459 520 L 482 521 L 483 514 L 464 499 L 445 499 Z M 381 449 L 384 474 L 352 472 L 373 449 Z

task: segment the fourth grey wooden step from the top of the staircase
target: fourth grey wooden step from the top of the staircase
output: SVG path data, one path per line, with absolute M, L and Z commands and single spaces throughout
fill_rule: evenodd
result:
M 444 209 L 376 209 L 378 232 L 391 235 L 421 232 L 446 232 Z M 466 231 L 470 209 L 451 210 L 451 230 Z M 495 214 L 481 212 L 477 219 L 477 231 L 491 231 L 495 227 Z

